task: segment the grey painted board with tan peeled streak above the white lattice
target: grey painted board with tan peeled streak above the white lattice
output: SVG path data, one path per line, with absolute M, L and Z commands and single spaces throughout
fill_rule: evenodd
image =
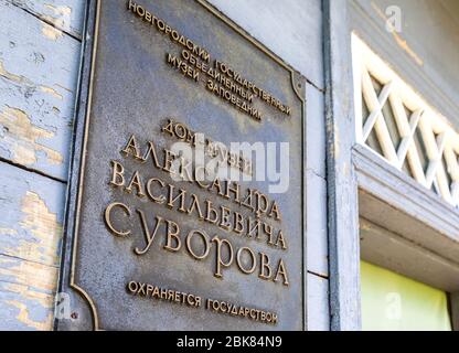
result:
M 353 0 L 352 29 L 404 81 L 459 128 L 459 24 L 440 1 Z M 402 31 L 386 30 L 386 9 L 397 6 Z M 456 6 L 457 7 L 457 6 Z M 391 14 L 391 12 L 387 12 Z

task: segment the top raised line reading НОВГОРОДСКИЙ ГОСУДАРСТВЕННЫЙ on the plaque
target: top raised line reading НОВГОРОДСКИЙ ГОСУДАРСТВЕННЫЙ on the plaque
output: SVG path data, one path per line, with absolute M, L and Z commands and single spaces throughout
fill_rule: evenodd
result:
M 132 0 L 128 1 L 127 8 L 128 11 L 131 11 L 137 17 L 141 18 L 143 21 L 150 23 L 151 25 L 154 25 L 159 32 L 168 35 L 172 42 L 180 44 L 181 46 L 183 46 L 185 51 L 190 51 L 191 54 L 199 57 L 203 63 L 207 63 L 211 65 L 212 61 L 209 51 L 206 51 L 201 45 L 194 43 L 191 39 L 181 34 L 178 30 L 171 28 L 166 21 L 159 19 L 152 12 L 147 11 L 142 6 L 137 4 Z M 195 61 L 193 63 L 195 64 Z M 204 64 L 201 64 L 201 66 L 202 65 Z M 230 88 L 231 92 L 238 94 L 243 89 L 246 89 L 247 94 L 253 94 L 255 97 L 260 98 L 268 106 L 276 108 L 277 110 L 287 116 L 291 115 L 291 108 L 289 106 L 282 104 L 280 99 L 276 98 L 267 90 L 258 87 L 249 79 L 243 77 L 241 73 L 233 69 L 230 65 L 226 65 L 225 63 L 222 63 L 220 61 L 214 61 L 213 66 L 215 72 L 220 72 L 222 75 L 226 76 L 226 81 L 228 83 L 226 87 Z M 212 71 L 212 68 L 210 68 L 209 71 Z M 206 72 L 209 73 L 209 71 Z M 242 98 L 246 99 L 246 95 Z

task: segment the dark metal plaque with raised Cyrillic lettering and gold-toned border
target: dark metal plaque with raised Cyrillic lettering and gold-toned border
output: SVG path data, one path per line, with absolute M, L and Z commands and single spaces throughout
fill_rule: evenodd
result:
M 204 1 L 88 1 L 56 329 L 305 330 L 305 84 Z

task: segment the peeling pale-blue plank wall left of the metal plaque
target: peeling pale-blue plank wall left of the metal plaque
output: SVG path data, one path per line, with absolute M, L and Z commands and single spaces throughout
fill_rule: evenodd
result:
M 0 0 L 0 330 L 50 330 L 82 0 Z

